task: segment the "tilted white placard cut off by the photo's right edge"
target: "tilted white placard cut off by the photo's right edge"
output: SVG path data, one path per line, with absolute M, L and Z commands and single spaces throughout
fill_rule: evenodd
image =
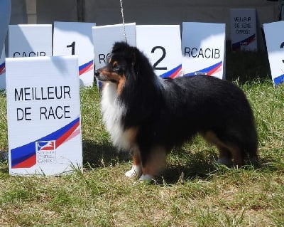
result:
M 263 24 L 271 77 L 274 85 L 284 82 L 284 21 Z M 277 35 L 275 35 L 277 34 Z

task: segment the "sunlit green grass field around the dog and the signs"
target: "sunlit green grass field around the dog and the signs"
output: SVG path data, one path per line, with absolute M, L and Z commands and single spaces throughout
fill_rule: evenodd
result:
M 0 162 L 0 226 L 284 226 L 284 87 L 273 88 L 266 58 L 236 53 L 226 63 L 256 117 L 260 167 L 216 164 L 217 150 L 197 137 L 168 156 L 154 184 L 126 179 L 130 157 L 111 147 L 97 88 L 82 89 L 84 173 L 9 176 Z M 8 149 L 5 93 L 0 149 Z

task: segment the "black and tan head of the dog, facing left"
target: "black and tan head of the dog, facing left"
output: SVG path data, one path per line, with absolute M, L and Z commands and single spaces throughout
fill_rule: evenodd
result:
M 143 67 L 139 65 L 143 65 Z M 143 56 L 143 53 L 127 43 L 116 42 L 107 64 L 97 69 L 94 75 L 97 80 L 102 82 L 115 83 L 117 85 L 117 93 L 120 94 L 126 81 L 133 85 L 133 81 L 137 82 L 145 77 L 144 75 L 149 75 L 149 73 L 142 72 L 146 68 L 150 68 L 150 72 L 153 72 L 152 66 L 148 59 Z

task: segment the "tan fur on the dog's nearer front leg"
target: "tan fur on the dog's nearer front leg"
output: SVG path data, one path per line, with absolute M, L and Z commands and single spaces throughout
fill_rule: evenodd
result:
M 142 166 L 142 176 L 139 180 L 153 179 L 165 166 L 166 151 L 164 147 L 154 147 L 145 166 Z

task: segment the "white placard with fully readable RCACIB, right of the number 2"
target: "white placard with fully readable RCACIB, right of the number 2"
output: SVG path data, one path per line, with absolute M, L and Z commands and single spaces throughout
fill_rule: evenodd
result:
M 185 76 L 224 78 L 224 23 L 182 23 L 182 70 Z

